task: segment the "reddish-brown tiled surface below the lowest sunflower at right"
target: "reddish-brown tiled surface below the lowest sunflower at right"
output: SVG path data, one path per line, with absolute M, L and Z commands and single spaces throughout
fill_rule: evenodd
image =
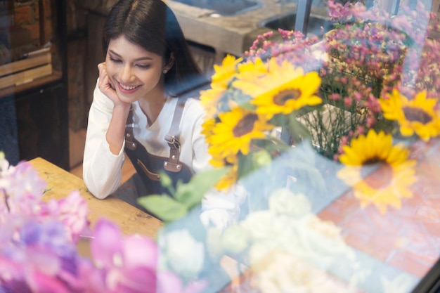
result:
M 413 197 L 402 200 L 401 209 L 362 209 L 350 191 L 319 214 L 342 228 L 351 247 L 420 278 L 439 259 L 440 247 L 440 143 L 422 148 Z

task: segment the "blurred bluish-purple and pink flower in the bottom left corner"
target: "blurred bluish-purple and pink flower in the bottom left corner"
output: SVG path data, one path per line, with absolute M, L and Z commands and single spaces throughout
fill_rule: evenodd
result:
M 25 282 L 32 292 L 78 292 L 80 257 L 62 223 L 27 219 L 15 230 L 1 246 L 0 282 Z

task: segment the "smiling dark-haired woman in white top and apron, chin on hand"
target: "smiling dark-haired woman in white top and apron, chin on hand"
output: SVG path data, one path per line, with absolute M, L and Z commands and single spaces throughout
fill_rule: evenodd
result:
M 116 192 L 136 204 L 136 197 L 155 193 L 151 186 L 157 187 L 150 161 L 169 159 L 165 165 L 174 168 L 169 174 L 176 175 L 175 181 L 188 181 L 188 174 L 211 168 L 201 134 L 204 111 L 198 100 L 180 96 L 204 77 L 174 13 L 161 0 L 119 1 L 108 15 L 103 36 L 105 62 L 98 65 L 89 112 L 84 182 L 95 197 Z M 178 150 L 173 149 L 172 129 L 179 130 Z M 137 174 L 119 188 L 126 154 Z M 132 185 L 141 191 L 127 192 Z M 238 217 L 240 202 L 241 196 L 234 193 L 208 193 L 200 219 L 224 228 Z

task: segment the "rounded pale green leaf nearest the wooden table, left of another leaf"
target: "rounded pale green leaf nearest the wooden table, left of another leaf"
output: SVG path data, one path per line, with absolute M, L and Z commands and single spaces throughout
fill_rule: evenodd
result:
M 167 195 L 148 195 L 138 198 L 146 210 L 151 211 L 162 221 L 175 221 L 188 213 L 186 204 L 182 204 Z

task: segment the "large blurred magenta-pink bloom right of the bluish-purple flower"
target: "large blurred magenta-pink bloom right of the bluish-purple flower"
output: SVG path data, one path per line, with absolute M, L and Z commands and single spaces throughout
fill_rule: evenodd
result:
M 91 254 L 101 270 L 101 275 L 92 270 L 93 287 L 102 284 L 105 289 L 101 292 L 198 293 L 207 285 L 205 280 L 183 284 L 174 273 L 160 271 L 157 268 L 158 247 L 150 237 L 124 236 L 114 223 L 105 219 L 96 223 L 93 232 Z

